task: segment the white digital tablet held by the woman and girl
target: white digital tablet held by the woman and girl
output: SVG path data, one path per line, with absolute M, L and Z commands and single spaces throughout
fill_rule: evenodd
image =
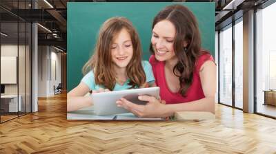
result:
M 145 101 L 138 99 L 140 95 L 155 96 L 155 98 L 159 98 L 159 87 L 107 91 L 91 94 L 91 97 L 96 115 L 112 115 L 129 112 L 122 107 L 117 107 L 116 101 L 120 98 L 126 98 L 135 104 L 146 104 Z

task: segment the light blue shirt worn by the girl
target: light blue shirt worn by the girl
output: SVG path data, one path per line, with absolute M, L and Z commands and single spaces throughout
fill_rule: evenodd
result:
M 155 81 L 155 77 L 153 76 L 152 67 L 151 67 L 150 63 L 148 63 L 148 61 L 141 61 L 141 63 L 144 68 L 144 72 L 146 74 L 146 82 L 152 83 L 153 81 Z M 119 85 L 118 83 L 116 83 L 113 91 L 129 89 L 131 87 L 130 85 L 128 85 L 129 81 L 130 80 L 128 79 L 126 81 L 126 83 L 124 83 L 124 85 Z M 103 85 L 96 85 L 95 75 L 94 75 L 94 72 L 92 72 L 92 71 L 90 71 L 88 74 L 86 74 L 86 76 L 83 76 L 83 78 L 81 79 L 81 82 L 88 85 L 90 90 L 97 90 L 99 88 L 105 89 L 103 87 Z

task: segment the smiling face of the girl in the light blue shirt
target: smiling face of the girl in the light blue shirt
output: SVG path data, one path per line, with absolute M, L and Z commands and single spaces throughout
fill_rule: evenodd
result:
M 115 67 L 126 68 L 133 55 L 132 41 L 128 31 L 123 28 L 112 40 L 111 56 Z

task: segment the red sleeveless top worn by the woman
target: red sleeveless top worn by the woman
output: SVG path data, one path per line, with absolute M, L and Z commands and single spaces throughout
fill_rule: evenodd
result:
M 195 69 L 193 72 L 193 82 L 189 89 L 186 91 L 186 97 L 181 96 L 179 93 L 170 91 L 165 78 L 165 63 L 164 61 L 157 61 L 155 56 L 150 56 L 150 64 L 152 65 L 152 72 L 155 76 L 155 83 L 160 87 L 160 97 L 166 100 L 166 104 L 177 104 L 183 102 L 190 102 L 205 98 L 203 89 L 201 87 L 201 80 L 199 77 L 199 69 L 206 61 L 214 61 L 210 54 L 202 54 L 197 58 Z

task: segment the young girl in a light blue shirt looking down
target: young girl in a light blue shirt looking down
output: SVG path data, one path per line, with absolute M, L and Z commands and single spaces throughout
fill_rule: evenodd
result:
M 155 86 L 148 61 L 141 61 L 141 44 L 132 23 L 124 17 L 108 19 L 101 26 L 94 55 L 83 66 L 81 83 L 68 93 L 67 111 L 93 104 L 90 96 L 101 91 L 116 91 Z

